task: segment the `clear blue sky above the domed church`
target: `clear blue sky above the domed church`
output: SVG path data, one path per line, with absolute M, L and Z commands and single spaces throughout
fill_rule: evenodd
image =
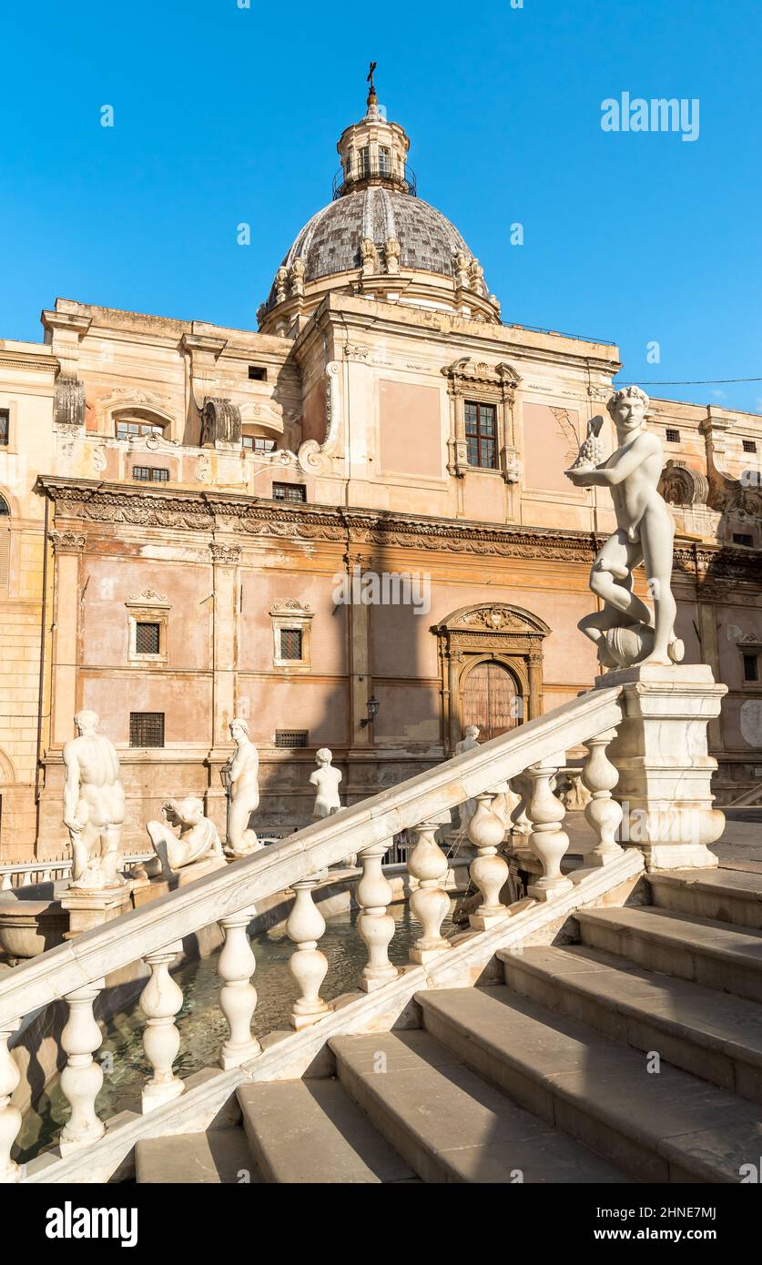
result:
M 628 381 L 762 378 L 757 0 L 238 4 L 5 6 L 0 336 L 58 295 L 256 328 L 372 57 L 504 320 L 616 342 Z M 699 139 L 603 132 L 623 91 L 697 99 Z M 648 390 L 762 411 L 762 382 Z

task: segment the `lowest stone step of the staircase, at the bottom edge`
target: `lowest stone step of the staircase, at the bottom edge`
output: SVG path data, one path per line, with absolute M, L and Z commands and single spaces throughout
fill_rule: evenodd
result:
M 227 1185 L 259 1182 L 242 1128 L 148 1137 L 135 1145 L 139 1185 Z

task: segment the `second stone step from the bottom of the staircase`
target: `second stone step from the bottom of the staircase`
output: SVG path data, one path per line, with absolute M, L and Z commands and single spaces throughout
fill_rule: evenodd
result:
M 238 1102 L 267 1183 L 415 1180 L 333 1078 L 240 1085 Z

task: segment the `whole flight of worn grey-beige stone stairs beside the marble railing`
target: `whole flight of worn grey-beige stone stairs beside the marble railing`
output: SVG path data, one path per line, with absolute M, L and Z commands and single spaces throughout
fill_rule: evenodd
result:
M 330 1075 L 238 1087 L 240 1123 L 139 1141 L 138 1182 L 738 1183 L 762 1137 L 762 874 L 649 875 Z M 230 1118 L 230 1117 L 228 1117 Z

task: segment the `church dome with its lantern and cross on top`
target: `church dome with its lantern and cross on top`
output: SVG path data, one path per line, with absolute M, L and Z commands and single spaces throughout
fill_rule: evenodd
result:
M 416 196 L 410 139 L 372 86 L 365 118 L 344 128 L 333 201 L 297 234 L 257 311 L 265 333 L 295 331 L 330 290 L 381 302 L 500 320 L 484 269 L 453 224 Z

